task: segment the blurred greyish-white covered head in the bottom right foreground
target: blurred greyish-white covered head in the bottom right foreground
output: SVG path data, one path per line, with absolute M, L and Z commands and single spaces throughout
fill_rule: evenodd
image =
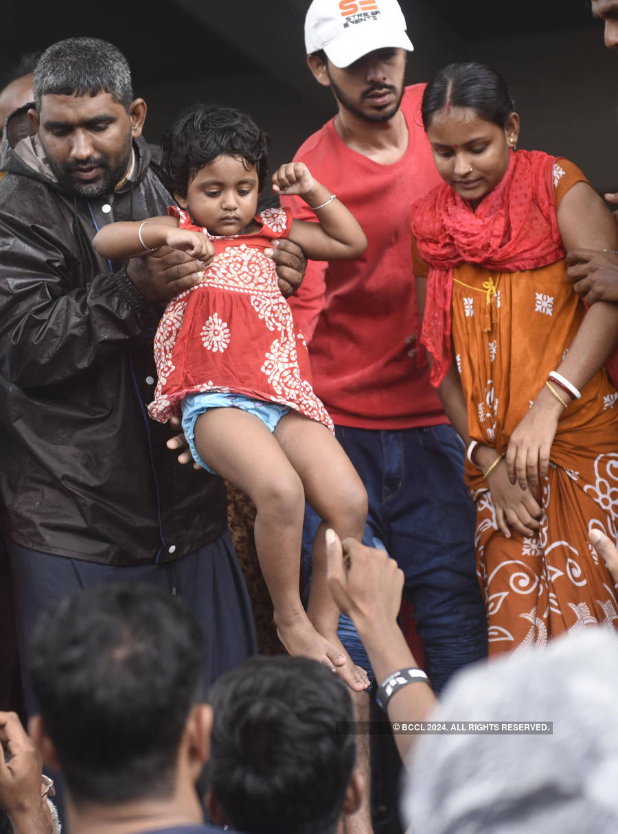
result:
M 614 614 L 615 619 L 615 614 Z M 605 627 L 610 625 L 610 615 Z M 611 627 L 611 626 L 610 626 Z M 461 671 L 410 763 L 419 834 L 618 831 L 618 636 L 600 626 Z M 476 733 L 452 732 L 474 722 Z M 551 735 L 484 733 L 553 721 Z M 513 728 L 511 728 L 513 729 Z

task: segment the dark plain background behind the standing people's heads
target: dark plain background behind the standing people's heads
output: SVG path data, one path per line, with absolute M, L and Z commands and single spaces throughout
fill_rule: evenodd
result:
M 0 73 L 21 53 L 78 34 L 115 43 L 148 102 L 146 134 L 158 141 L 196 100 L 251 113 L 271 137 L 271 163 L 334 113 L 329 90 L 304 63 L 307 0 L 83 0 L 3 3 Z M 402 0 L 415 52 L 411 83 L 445 63 L 480 60 L 505 75 L 522 118 L 520 146 L 564 155 L 599 190 L 618 190 L 618 53 L 586 0 Z

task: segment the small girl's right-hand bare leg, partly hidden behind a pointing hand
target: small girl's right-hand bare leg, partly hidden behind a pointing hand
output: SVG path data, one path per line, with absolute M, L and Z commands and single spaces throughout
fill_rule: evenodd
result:
M 332 527 L 339 536 L 361 540 L 367 517 L 367 493 L 354 466 L 337 440 L 324 425 L 290 411 L 274 431 L 290 463 L 299 473 L 308 503 L 322 519 L 311 552 L 309 618 L 330 643 L 341 646 L 337 636 L 339 609 L 326 583 L 325 530 Z M 348 662 L 338 674 L 349 686 L 362 690 L 369 679 Z

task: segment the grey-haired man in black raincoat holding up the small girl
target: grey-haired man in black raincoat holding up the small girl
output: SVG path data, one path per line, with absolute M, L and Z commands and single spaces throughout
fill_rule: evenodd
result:
M 170 250 L 128 264 L 93 250 L 103 224 L 173 202 L 118 49 L 53 44 L 34 96 L 9 117 L 0 163 L 0 495 L 20 651 L 66 591 L 147 580 L 198 617 L 209 682 L 254 651 L 224 484 L 178 465 L 145 411 L 163 304 L 201 267 Z M 292 283 L 297 253 L 275 253 Z

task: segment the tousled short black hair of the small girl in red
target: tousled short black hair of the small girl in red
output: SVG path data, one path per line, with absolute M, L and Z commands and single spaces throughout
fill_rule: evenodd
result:
M 188 184 L 204 165 L 222 153 L 256 168 L 259 188 L 269 173 L 269 138 L 246 113 L 218 104 L 194 104 L 161 140 L 166 185 L 187 196 Z

